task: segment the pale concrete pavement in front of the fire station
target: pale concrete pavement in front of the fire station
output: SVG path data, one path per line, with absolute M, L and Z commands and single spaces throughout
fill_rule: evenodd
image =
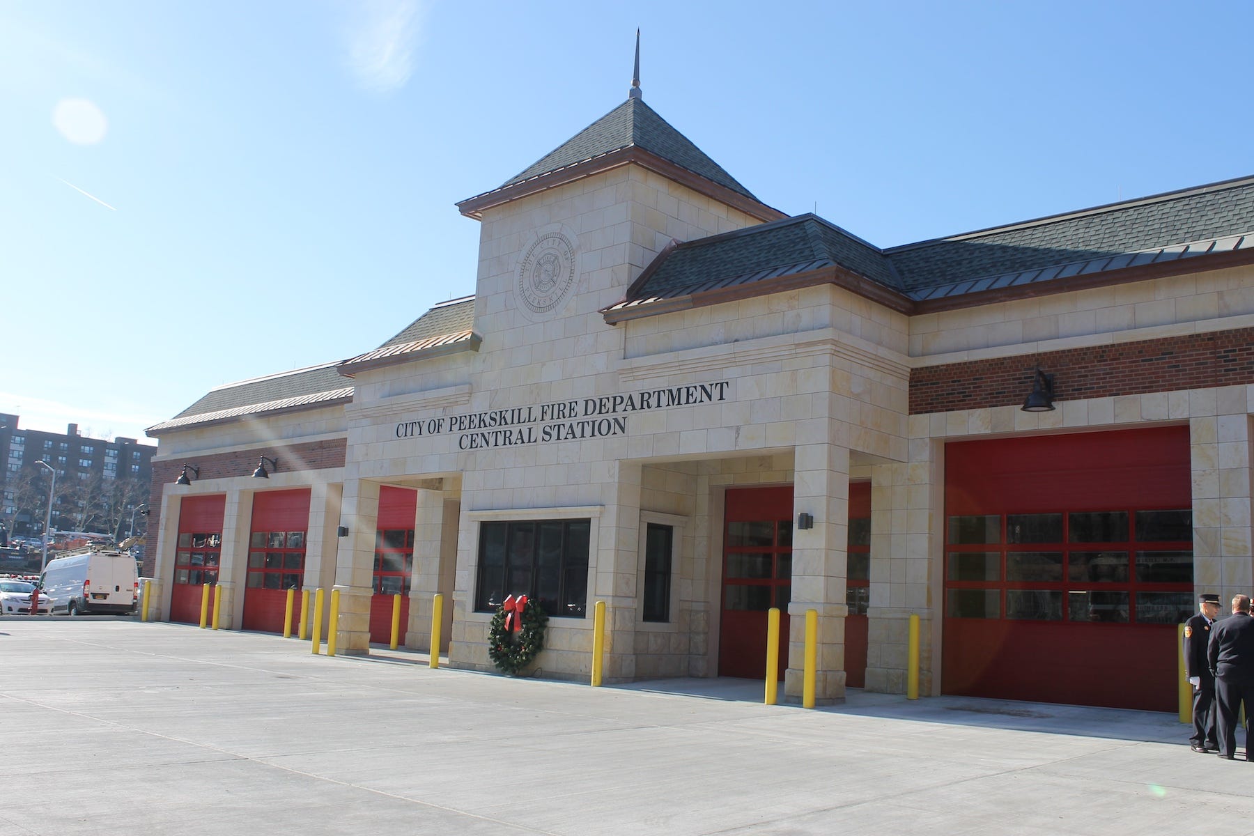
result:
M 806 711 L 123 619 L 0 618 L 0 836 L 1254 832 L 1254 763 L 1170 714 Z

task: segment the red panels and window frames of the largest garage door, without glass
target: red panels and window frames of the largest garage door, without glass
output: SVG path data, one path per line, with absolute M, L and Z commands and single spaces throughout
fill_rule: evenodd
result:
M 1137 590 L 1181 589 L 1191 583 L 1137 584 L 1135 572 L 1119 585 L 1127 590 L 1127 623 L 954 618 L 949 590 L 998 590 L 1004 602 L 1009 585 L 1023 589 L 1068 588 L 1058 584 L 1004 580 L 1006 554 L 1041 546 L 1007 544 L 1007 514 L 1189 509 L 1191 506 L 1189 427 L 1165 426 L 1075 435 L 952 442 L 946 447 L 946 525 L 951 516 L 1001 515 L 998 544 L 946 545 L 946 618 L 942 640 L 942 684 L 946 693 L 1032 699 L 1073 704 L 1174 711 L 1176 704 L 1176 627 L 1136 623 Z M 1111 548 L 1135 562 L 1137 544 Z M 1156 548 L 1191 550 L 1191 541 Z M 1082 550 L 1065 543 L 1060 549 Z M 1096 546 L 1101 548 L 1101 546 Z M 999 551 L 997 582 L 949 580 L 949 555 Z M 1088 585 L 1080 583 L 1078 585 Z M 1066 600 L 1067 593 L 1063 592 Z

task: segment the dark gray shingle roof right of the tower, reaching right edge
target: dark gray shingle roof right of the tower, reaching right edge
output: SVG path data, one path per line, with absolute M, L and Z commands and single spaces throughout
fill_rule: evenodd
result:
M 915 301 L 1254 248 L 1254 178 L 879 249 L 813 214 L 678 244 L 623 305 L 839 266 Z

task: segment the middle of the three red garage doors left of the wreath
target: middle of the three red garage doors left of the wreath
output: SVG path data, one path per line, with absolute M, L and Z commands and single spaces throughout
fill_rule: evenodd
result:
M 287 590 L 295 589 L 298 598 L 305 582 L 305 535 L 308 519 L 307 488 L 266 491 L 252 498 L 243 629 L 283 632 Z M 298 608 L 293 609 L 298 612 Z

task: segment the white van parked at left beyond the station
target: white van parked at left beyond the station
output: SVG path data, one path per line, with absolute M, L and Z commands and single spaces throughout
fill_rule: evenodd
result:
M 125 614 L 135 609 L 139 570 L 122 551 L 84 551 L 49 560 L 39 587 L 53 600 L 53 613 Z

